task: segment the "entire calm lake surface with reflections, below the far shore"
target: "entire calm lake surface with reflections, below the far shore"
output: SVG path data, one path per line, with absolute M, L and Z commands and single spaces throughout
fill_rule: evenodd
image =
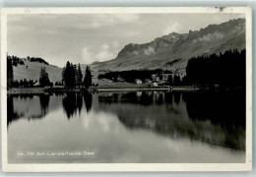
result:
M 9 94 L 7 103 L 9 163 L 245 162 L 244 93 Z

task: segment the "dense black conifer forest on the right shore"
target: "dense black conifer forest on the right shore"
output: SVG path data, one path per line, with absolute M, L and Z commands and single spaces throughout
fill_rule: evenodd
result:
M 246 51 L 227 50 L 220 54 L 196 56 L 186 67 L 187 84 L 220 85 L 245 88 Z

